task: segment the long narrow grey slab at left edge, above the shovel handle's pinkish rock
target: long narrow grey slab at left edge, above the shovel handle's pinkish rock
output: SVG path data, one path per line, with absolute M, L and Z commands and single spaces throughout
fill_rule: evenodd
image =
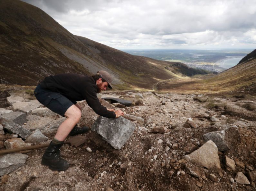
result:
M 19 124 L 14 123 L 11 120 L 7 120 L 5 118 L 0 118 L 0 123 L 3 125 L 3 127 L 7 131 L 9 131 L 10 133 L 18 134 L 19 136 L 21 136 L 24 139 L 32 134 L 32 132 L 30 132 L 27 129 L 24 129 Z

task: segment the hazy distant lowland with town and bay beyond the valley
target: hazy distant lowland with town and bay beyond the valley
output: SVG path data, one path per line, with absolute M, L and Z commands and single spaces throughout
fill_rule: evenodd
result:
M 182 62 L 195 69 L 222 72 L 238 64 L 252 49 L 219 50 L 122 50 L 129 54 L 146 56 L 157 60 Z M 232 60 L 233 62 L 228 62 Z

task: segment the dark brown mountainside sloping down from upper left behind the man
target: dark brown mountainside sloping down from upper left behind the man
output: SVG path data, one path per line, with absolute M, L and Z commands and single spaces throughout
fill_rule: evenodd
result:
M 41 9 L 18 1 L 0 3 L 0 83 L 36 85 L 58 73 L 106 70 L 116 88 L 152 88 L 187 75 L 172 62 L 134 56 L 71 34 Z

